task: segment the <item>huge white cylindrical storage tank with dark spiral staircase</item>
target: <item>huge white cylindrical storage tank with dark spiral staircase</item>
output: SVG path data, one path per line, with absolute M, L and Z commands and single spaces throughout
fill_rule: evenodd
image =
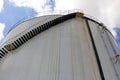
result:
M 0 46 L 0 80 L 120 80 L 111 32 L 79 10 L 16 25 Z

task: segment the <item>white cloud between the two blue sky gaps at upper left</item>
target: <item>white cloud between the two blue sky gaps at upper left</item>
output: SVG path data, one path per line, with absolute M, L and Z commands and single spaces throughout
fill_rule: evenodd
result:
M 19 7 L 30 7 L 37 12 L 50 10 L 50 5 L 45 6 L 47 0 L 9 0 L 13 4 Z

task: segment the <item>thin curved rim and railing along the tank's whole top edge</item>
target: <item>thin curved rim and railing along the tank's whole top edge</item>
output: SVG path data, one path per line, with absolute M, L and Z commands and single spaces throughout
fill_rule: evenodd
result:
M 59 13 L 60 12 L 60 13 Z M 42 13 L 42 15 L 40 14 L 38 14 L 37 16 L 35 16 L 35 17 L 32 17 L 32 18 L 28 18 L 28 19 L 25 19 L 25 20 L 23 20 L 22 22 L 18 22 L 18 23 L 16 23 L 14 26 L 13 26 L 13 28 L 11 28 L 9 31 L 8 31 L 8 33 L 7 33 L 7 35 L 13 30 L 13 29 L 15 29 L 17 26 L 19 26 L 20 24 L 22 24 L 22 23 L 25 23 L 25 22 L 27 22 L 27 21 L 29 21 L 29 20 L 32 20 L 32 19 L 35 19 L 35 18 L 39 18 L 39 17 L 44 17 L 44 16 L 50 16 L 50 15 L 67 15 L 67 14 L 70 14 L 70 13 L 81 13 L 82 14 L 82 16 L 83 16 L 83 18 L 86 18 L 86 19 L 89 19 L 89 20 L 91 20 L 91 21 L 93 21 L 93 22 L 95 22 L 95 23 L 97 23 L 97 24 L 99 24 L 100 26 L 102 26 L 103 28 L 105 28 L 105 30 L 107 30 L 111 35 L 112 35 L 112 37 L 114 38 L 114 36 L 113 36 L 113 34 L 110 32 L 110 30 L 101 22 L 101 21 L 99 21 L 98 19 L 96 19 L 96 18 L 94 18 L 94 17 L 89 17 L 89 16 L 86 16 L 86 14 L 84 14 L 81 10 L 63 10 L 63 11 L 57 11 L 57 13 L 56 12 L 51 12 L 51 13 L 49 13 L 48 14 L 48 12 L 46 11 L 45 12 L 46 14 L 43 14 Z M 7 35 L 6 35 L 6 37 L 7 37 Z M 114 38 L 115 39 L 115 38 Z M 4 44 L 4 43 L 2 43 L 2 44 Z

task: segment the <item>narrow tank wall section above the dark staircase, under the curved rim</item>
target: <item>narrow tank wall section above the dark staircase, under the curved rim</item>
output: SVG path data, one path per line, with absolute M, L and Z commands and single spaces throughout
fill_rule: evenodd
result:
M 59 17 L 61 15 L 47 15 L 47 16 L 40 16 L 40 17 L 35 17 L 29 20 L 26 20 L 18 25 L 16 25 L 16 27 L 14 27 L 6 36 L 4 42 L 18 36 L 19 34 L 25 32 L 26 29 L 29 29 L 31 27 L 36 27 L 39 26 L 41 24 L 46 23 L 47 21 L 54 19 L 55 17 Z M 3 43 L 4 43 L 3 42 Z

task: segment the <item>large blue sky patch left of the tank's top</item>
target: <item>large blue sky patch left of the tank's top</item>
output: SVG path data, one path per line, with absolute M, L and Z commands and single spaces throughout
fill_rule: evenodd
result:
M 10 3 L 8 0 L 4 0 L 4 9 L 0 13 L 0 22 L 5 23 L 5 29 L 3 31 L 4 36 L 18 21 L 26 16 L 35 14 L 35 10 L 28 7 L 17 7 Z

